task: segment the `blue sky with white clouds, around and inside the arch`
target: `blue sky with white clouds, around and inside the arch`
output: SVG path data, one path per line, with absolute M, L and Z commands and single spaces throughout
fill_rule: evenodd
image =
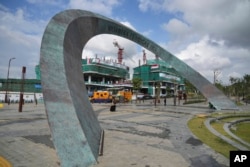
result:
M 23 66 L 26 78 L 36 78 L 46 25 L 67 9 L 92 11 L 132 28 L 211 82 L 214 71 L 225 85 L 229 77 L 250 74 L 250 0 L 1 0 L 0 78 L 7 78 L 9 62 L 9 78 L 21 78 Z M 116 59 L 114 40 L 130 69 L 142 62 L 144 48 L 114 35 L 90 39 L 82 58 Z

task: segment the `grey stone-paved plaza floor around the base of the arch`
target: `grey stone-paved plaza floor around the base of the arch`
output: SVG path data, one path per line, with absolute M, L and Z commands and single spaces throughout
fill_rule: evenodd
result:
M 187 128 L 194 115 L 212 112 L 207 106 L 154 106 L 150 100 L 117 104 L 110 112 L 110 104 L 93 104 L 105 130 L 103 156 L 94 167 L 229 166 Z M 22 113 L 17 104 L 0 109 L 0 156 L 14 167 L 60 166 L 43 104 L 25 104 Z

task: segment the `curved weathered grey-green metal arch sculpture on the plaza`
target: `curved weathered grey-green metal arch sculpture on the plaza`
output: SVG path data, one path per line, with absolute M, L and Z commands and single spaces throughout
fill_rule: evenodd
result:
M 104 16 L 66 10 L 50 20 L 40 51 L 46 112 L 61 166 L 89 166 L 98 157 L 102 129 L 87 96 L 81 55 L 88 40 L 99 34 L 136 42 L 175 67 L 214 107 L 236 109 L 208 80 L 153 41 Z

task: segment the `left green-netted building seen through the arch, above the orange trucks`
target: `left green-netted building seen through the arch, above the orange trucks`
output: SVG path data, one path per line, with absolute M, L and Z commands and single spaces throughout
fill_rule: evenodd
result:
M 39 65 L 35 68 L 36 78 L 41 79 Z M 112 59 L 86 58 L 82 59 L 82 74 L 88 92 L 106 88 L 132 88 L 129 81 L 129 67 Z

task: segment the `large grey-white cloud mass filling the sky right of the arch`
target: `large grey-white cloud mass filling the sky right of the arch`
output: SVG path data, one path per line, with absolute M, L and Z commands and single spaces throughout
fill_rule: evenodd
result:
M 170 36 L 165 48 L 212 81 L 250 73 L 249 0 L 140 0 L 143 12 L 171 13 L 162 25 Z

